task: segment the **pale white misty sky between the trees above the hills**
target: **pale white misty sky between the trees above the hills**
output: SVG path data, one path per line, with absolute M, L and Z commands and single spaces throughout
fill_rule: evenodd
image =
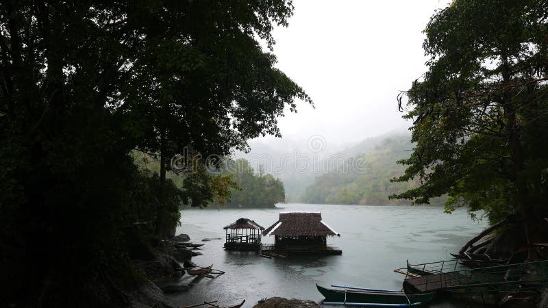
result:
M 396 97 L 426 70 L 422 30 L 446 1 L 296 0 L 289 27 L 273 31 L 277 67 L 303 87 L 316 109 L 279 118 L 284 138 L 320 135 L 359 142 L 409 126 Z M 253 143 L 272 142 L 259 138 Z

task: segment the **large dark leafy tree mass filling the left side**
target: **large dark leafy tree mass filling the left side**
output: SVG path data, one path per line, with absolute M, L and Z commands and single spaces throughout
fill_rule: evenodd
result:
M 279 135 L 284 107 L 311 102 L 258 43 L 272 47 L 291 14 L 278 0 L 2 1 L 0 298 L 123 305 L 122 230 L 177 222 L 178 198 L 201 197 L 210 179 L 189 177 L 179 196 L 171 155 Z M 134 149 L 160 155 L 159 177 L 140 172 Z

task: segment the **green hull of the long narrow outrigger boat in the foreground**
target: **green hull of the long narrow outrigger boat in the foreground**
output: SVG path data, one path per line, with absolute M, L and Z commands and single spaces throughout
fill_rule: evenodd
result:
M 362 291 L 362 290 L 335 290 L 316 285 L 318 291 L 327 302 L 339 303 L 372 303 L 372 304 L 399 304 L 409 305 L 416 303 L 429 303 L 436 293 L 406 294 L 395 291 Z

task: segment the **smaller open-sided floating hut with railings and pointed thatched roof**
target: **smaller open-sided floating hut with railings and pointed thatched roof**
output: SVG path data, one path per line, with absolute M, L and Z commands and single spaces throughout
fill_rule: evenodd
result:
M 264 228 L 253 220 L 240 218 L 223 229 L 226 233 L 225 249 L 229 251 L 253 251 L 261 247 Z

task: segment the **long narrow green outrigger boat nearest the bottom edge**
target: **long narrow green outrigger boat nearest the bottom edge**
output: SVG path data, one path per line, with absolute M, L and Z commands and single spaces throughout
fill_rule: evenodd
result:
M 392 290 L 375 290 L 363 287 L 332 285 L 339 289 L 328 289 L 316 284 L 318 291 L 325 297 L 324 305 L 412 307 L 431 302 L 436 292 L 406 294 Z

